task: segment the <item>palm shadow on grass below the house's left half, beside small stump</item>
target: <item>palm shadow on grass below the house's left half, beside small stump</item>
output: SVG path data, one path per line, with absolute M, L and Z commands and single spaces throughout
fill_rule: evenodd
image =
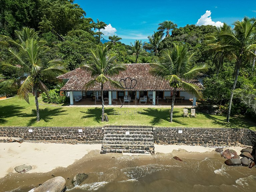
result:
M 118 113 L 116 112 L 116 110 L 114 108 L 106 108 L 105 113 L 107 113 L 108 115 L 118 115 Z M 85 118 L 93 118 L 93 121 L 96 121 L 97 123 L 101 122 L 101 113 L 102 110 L 101 108 L 93 108 L 93 109 L 88 109 L 87 111 L 80 111 L 81 113 L 87 114 L 81 117 L 81 119 L 85 119 Z

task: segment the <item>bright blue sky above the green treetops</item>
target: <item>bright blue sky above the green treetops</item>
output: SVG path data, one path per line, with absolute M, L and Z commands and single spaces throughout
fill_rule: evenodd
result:
M 122 43 L 128 45 L 135 40 L 147 41 L 147 37 L 157 31 L 158 24 L 165 20 L 184 27 L 196 24 L 201 16 L 198 25 L 220 25 L 223 22 L 231 25 L 244 16 L 256 17 L 255 0 L 75 0 L 74 3 L 83 8 L 86 17 L 108 24 L 106 30 L 102 31 L 105 39 L 115 34 L 122 38 Z

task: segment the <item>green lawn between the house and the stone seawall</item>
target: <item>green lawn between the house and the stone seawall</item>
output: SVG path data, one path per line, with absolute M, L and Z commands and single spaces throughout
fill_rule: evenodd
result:
M 101 122 L 101 108 L 67 107 L 45 104 L 39 98 L 40 121 L 36 122 L 36 106 L 30 96 L 30 104 L 17 97 L 0 101 L 1 126 L 103 126 L 103 125 L 144 125 L 159 127 L 227 127 L 250 128 L 256 124 L 241 117 L 197 113 L 197 118 L 183 118 L 182 108 L 175 108 L 173 123 L 169 122 L 169 108 L 119 108 L 106 107 L 109 122 Z M 190 110 L 189 110 L 190 111 Z

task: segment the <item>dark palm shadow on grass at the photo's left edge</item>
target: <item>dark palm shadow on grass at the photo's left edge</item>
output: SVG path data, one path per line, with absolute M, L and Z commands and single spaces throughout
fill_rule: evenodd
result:
M 6 105 L 0 107 L 0 124 L 7 123 L 8 121 L 6 120 L 6 118 L 26 115 L 21 111 L 24 108 L 25 107 L 19 107 L 16 105 Z

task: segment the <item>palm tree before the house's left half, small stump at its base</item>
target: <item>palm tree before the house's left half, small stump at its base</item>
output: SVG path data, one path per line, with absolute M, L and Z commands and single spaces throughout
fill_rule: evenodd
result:
M 101 84 L 101 101 L 102 101 L 102 116 L 101 121 L 104 121 L 104 100 L 103 100 L 103 85 L 107 81 L 110 85 L 121 88 L 120 83 L 111 79 L 114 75 L 119 74 L 120 71 L 124 71 L 126 68 L 123 64 L 112 63 L 115 60 L 116 54 L 109 53 L 108 47 L 98 45 L 96 50 L 92 52 L 92 58 L 90 61 L 82 62 L 82 69 L 91 72 L 93 80 L 89 81 L 85 88 L 88 89 L 95 85 L 95 83 Z

